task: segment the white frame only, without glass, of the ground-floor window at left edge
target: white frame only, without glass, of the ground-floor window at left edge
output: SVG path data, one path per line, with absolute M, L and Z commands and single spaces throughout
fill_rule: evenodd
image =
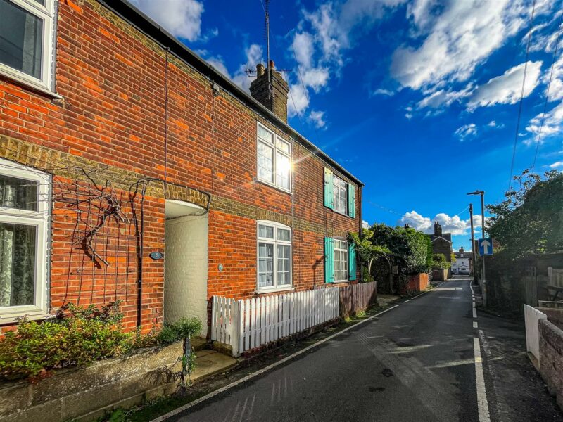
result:
M 37 319 L 48 314 L 47 274 L 49 263 L 49 228 L 51 220 L 51 175 L 0 158 L 0 174 L 37 182 L 37 211 L 0 206 L 0 222 L 37 227 L 35 241 L 34 304 L 0 307 L 0 323 L 13 322 L 27 315 Z

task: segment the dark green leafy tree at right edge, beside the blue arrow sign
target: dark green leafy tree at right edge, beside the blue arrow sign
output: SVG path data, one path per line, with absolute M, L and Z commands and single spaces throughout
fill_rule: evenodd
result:
M 488 234 L 512 257 L 563 249 L 563 173 L 545 172 L 543 178 L 524 170 L 514 177 L 517 189 L 505 193 L 493 214 Z

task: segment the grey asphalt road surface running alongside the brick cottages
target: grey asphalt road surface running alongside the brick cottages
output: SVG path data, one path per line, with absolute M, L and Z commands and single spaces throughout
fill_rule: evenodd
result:
M 486 422 L 483 400 L 481 420 L 477 404 L 474 339 L 480 334 L 474 321 L 469 279 L 456 277 L 169 421 Z M 481 331 L 481 337 L 488 344 L 486 333 Z M 487 385 L 481 395 L 486 395 L 487 413 L 491 407 L 491 421 L 563 420 L 531 364 L 504 368 L 502 359 L 486 361 L 494 351 L 480 348 L 485 359 L 481 384 Z M 495 365 L 502 367 L 495 370 Z M 502 385 L 499 374 L 530 368 L 519 378 L 523 385 L 488 395 L 495 382 Z M 536 390 L 527 396 L 537 402 L 542 395 L 543 406 L 537 407 L 548 406 L 550 413 L 529 409 L 513 418 L 502 406 L 520 402 L 514 390 L 526 390 L 530 376 L 536 377 L 531 381 Z

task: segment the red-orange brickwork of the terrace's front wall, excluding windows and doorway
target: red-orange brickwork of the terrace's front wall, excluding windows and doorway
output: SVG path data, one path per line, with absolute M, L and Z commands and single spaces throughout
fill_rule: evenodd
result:
M 144 331 L 162 324 L 164 264 L 148 253 L 164 252 L 165 198 L 209 210 L 208 295 L 255 294 L 257 219 L 293 228 L 296 289 L 323 283 L 323 238 L 360 229 L 361 187 L 354 219 L 328 210 L 329 165 L 267 113 L 214 91 L 207 77 L 98 1 L 58 4 L 61 98 L 0 77 L 0 157 L 53 174 L 51 310 L 123 300 L 133 328 L 140 298 Z M 292 145 L 291 194 L 256 180 L 257 122 Z

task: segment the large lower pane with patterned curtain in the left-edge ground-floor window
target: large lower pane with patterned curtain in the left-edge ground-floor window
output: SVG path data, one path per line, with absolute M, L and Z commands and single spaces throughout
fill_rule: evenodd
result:
M 33 305 L 36 226 L 0 223 L 0 307 Z

